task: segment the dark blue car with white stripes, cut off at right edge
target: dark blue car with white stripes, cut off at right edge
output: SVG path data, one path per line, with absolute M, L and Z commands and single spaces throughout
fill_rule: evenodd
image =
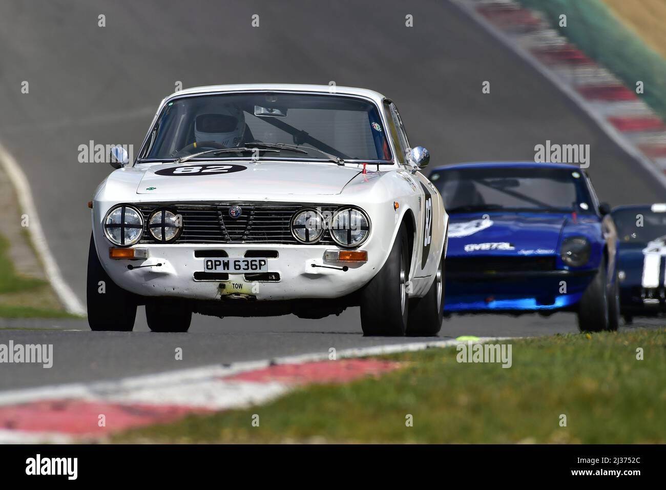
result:
M 666 203 L 617 206 L 611 211 L 619 239 L 620 313 L 666 313 Z

